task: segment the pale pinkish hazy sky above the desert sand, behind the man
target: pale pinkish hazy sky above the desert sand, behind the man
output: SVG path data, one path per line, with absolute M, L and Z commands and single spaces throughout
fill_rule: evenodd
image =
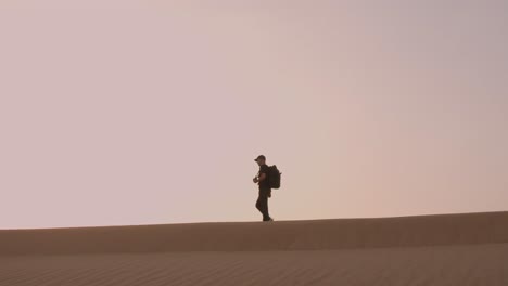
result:
M 508 210 L 507 1 L 0 1 L 0 229 Z

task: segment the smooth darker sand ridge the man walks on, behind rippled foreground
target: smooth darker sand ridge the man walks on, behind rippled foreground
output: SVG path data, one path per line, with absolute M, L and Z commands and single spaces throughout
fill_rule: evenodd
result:
M 508 243 L 508 211 L 0 231 L 0 256 L 297 251 Z

